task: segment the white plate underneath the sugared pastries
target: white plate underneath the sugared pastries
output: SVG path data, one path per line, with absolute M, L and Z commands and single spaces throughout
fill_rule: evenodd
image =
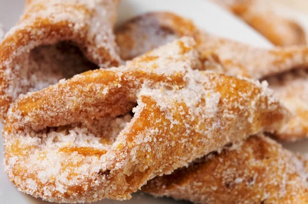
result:
M 24 7 L 24 0 L 0 0 L 0 23 L 6 30 L 12 27 L 21 15 Z M 200 28 L 207 32 L 223 37 L 238 40 L 243 43 L 258 47 L 272 47 L 265 38 L 255 32 L 233 15 L 223 11 L 216 5 L 203 0 L 124 0 L 119 10 L 119 22 L 123 22 L 129 17 L 148 11 L 171 11 L 192 19 Z M 2 125 L 0 124 L 2 130 Z M 3 157 L 2 137 L 0 137 L 0 158 Z M 303 144 L 303 143 L 301 143 Z M 291 148 L 296 149 L 293 145 Z M 14 185 L 8 180 L 3 168 L 0 168 L 0 203 L 4 204 L 42 204 L 49 203 L 41 199 L 33 198 L 18 192 Z M 177 202 L 167 198 L 153 198 L 149 195 L 136 193 L 129 201 L 103 200 L 99 203 L 186 203 Z

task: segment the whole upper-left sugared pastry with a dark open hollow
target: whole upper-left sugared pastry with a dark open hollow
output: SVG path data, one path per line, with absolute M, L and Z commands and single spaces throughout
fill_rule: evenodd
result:
M 0 44 L 0 119 L 12 101 L 89 69 L 117 66 L 119 0 L 32 0 Z

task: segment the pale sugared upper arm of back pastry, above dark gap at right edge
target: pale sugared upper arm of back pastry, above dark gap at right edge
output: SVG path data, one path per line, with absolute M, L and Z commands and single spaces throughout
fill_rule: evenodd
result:
M 205 67 L 222 67 L 230 75 L 260 79 L 308 65 L 306 47 L 260 49 L 209 34 L 200 36 Z

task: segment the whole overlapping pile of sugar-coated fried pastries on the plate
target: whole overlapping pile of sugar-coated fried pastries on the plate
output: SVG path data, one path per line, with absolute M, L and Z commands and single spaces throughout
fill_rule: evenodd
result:
M 4 164 L 17 189 L 60 203 L 137 191 L 308 203 L 308 159 L 275 141 L 308 137 L 308 48 L 254 48 L 167 12 L 114 28 L 119 3 L 27 0 L 2 40 Z

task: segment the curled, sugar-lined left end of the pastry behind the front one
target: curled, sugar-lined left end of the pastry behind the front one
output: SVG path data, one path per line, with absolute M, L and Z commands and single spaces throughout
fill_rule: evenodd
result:
M 191 21 L 176 15 L 146 13 L 119 25 L 115 29 L 115 41 L 122 59 L 130 60 L 180 36 L 191 35 L 195 29 Z

